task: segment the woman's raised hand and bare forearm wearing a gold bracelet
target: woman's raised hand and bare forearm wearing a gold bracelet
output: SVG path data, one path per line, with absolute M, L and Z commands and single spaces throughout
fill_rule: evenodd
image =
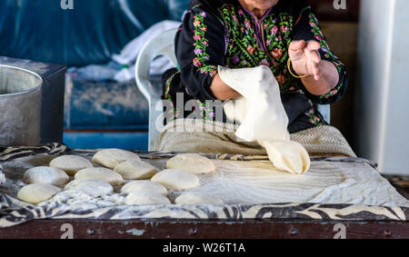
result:
M 321 60 L 318 50 L 321 45 L 316 41 L 293 41 L 288 47 L 288 54 L 295 73 L 300 76 L 306 90 L 314 95 L 323 95 L 334 89 L 339 82 L 335 65 Z

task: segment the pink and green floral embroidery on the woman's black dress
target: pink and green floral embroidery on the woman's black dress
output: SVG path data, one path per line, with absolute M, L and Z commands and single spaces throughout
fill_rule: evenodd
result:
M 195 9 L 195 7 L 194 7 Z M 307 7 L 304 11 L 309 11 Z M 303 11 L 303 12 L 304 12 Z M 291 35 L 294 24 L 298 23 L 302 17 L 307 19 L 314 38 L 321 44 L 324 57 L 331 61 L 337 68 L 339 74 L 346 74 L 344 64 L 331 52 L 325 41 L 324 35 L 318 25 L 318 21 L 313 14 L 307 16 L 300 15 L 295 22 L 294 17 L 287 13 L 274 13 L 266 15 L 261 21 L 246 12 L 239 5 L 225 4 L 218 9 L 217 19 L 224 25 L 225 61 L 229 68 L 254 67 L 258 65 L 269 66 L 272 70 L 282 93 L 305 94 L 304 86 L 300 79 L 294 78 L 287 70 L 288 46 L 292 41 Z M 206 39 L 208 27 L 205 25 L 205 12 L 196 12 L 193 16 L 195 41 L 195 57 L 193 64 L 197 71 L 202 74 L 210 74 L 212 77 L 217 74 L 217 66 L 207 64 L 210 55 L 207 53 L 209 41 Z M 214 47 L 218 47 L 215 45 Z M 166 87 L 168 85 L 166 84 Z M 329 92 L 319 96 L 320 99 L 329 99 L 340 93 L 344 81 Z M 168 92 L 168 89 L 166 89 Z M 165 94 L 166 95 L 166 94 Z M 167 97 L 166 97 L 167 98 Z M 324 125 L 324 121 L 317 113 L 313 102 L 310 100 L 311 109 L 305 113 L 311 124 Z M 207 104 L 195 101 L 195 110 L 200 110 L 205 120 L 214 118 L 214 110 Z M 175 113 L 177 115 L 178 113 Z

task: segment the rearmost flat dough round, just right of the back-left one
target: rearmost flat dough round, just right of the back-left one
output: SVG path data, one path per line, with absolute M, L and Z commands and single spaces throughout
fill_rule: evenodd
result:
M 136 153 L 120 149 L 105 149 L 95 153 L 93 163 L 100 164 L 106 168 L 115 169 L 120 163 L 130 160 L 140 160 Z

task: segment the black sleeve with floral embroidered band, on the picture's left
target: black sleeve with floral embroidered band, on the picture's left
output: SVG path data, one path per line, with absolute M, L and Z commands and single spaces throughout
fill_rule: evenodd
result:
M 181 80 L 196 99 L 215 100 L 210 91 L 217 66 L 225 65 L 224 25 L 204 5 L 196 5 L 185 15 L 176 37 L 176 57 Z

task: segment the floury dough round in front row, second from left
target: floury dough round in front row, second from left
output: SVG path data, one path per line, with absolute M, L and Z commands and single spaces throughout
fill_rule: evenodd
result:
M 92 197 L 100 197 L 114 192 L 110 183 L 92 179 L 78 179 L 65 185 L 65 190 L 75 190 L 86 193 Z

